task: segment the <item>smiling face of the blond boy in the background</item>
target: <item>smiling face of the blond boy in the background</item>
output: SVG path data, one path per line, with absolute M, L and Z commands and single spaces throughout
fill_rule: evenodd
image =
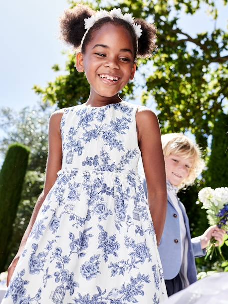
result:
M 165 157 L 166 178 L 174 186 L 179 186 L 188 176 L 193 165 L 192 158 L 176 154 Z

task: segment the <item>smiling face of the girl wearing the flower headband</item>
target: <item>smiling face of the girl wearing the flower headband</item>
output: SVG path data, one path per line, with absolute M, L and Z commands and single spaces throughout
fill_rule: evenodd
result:
M 77 70 L 85 71 L 91 86 L 92 101 L 115 99 L 129 79 L 133 79 L 136 69 L 130 33 L 112 23 L 95 31 L 85 53 L 78 53 L 76 59 Z

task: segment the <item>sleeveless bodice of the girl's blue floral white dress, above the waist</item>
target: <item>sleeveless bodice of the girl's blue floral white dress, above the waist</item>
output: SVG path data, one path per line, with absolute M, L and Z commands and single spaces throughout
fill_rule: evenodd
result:
M 125 101 L 67 108 L 61 120 L 62 169 L 137 173 L 137 109 Z

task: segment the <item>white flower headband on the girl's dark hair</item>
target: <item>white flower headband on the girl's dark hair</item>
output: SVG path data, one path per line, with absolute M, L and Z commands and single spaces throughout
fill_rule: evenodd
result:
M 82 47 L 82 44 L 85 40 L 85 36 L 88 33 L 89 29 L 94 25 L 95 22 L 97 22 L 99 19 L 102 19 L 105 17 L 110 17 L 111 19 L 113 19 L 114 17 L 123 19 L 132 25 L 132 27 L 136 33 L 136 36 L 138 38 L 142 35 L 141 25 L 134 23 L 134 17 L 132 17 L 131 13 L 122 14 L 120 8 L 113 8 L 110 11 L 107 11 L 106 9 L 100 9 L 91 17 L 84 19 L 86 32 L 84 33 L 84 35 L 82 37 L 80 48 Z

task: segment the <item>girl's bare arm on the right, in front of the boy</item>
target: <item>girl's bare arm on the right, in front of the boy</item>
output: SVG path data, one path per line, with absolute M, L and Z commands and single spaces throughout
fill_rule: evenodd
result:
M 167 190 L 161 132 L 157 116 L 145 107 L 136 113 L 139 148 L 147 182 L 148 204 L 157 244 L 160 243 L 166 218 Z

